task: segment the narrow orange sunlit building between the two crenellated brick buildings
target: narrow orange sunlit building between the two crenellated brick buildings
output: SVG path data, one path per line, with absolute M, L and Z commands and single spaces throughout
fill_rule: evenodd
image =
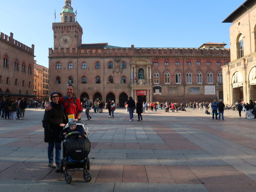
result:
M 36 64 L 34 60 L 34 94 L 38 101 L 48 101 L 49 102 L 49 70 L 48 68 Z

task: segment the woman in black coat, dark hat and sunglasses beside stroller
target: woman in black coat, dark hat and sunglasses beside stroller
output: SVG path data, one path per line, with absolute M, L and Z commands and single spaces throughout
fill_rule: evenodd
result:
M 57 92 L 50 94 L 52 107 L 51 110 L 44 112 L 45 119 L 48 122 L 48 128 L 44 128 L 44 141 L 48 142 L 48 159 L 49 167 L 56 167 L 55 172 L 60 172 L 60 158 L 61 158 L 61 139 L 58 137 L 60 131 L 66 125 L 63 106 L 59 104 L 59 96 Z M 55 146 L 55 162 L 53 160 L 53 149 Z

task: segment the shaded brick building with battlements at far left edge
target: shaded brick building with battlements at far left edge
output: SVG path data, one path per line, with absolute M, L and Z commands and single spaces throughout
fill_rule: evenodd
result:
M 0 34 L 0 98 L 32 100 L 34 45 L 31 48 L 10 36 Z

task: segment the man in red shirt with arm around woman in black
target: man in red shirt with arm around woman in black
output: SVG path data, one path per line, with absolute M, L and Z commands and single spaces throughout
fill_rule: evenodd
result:
M 81 120 L 81 115 L 83 112 L 82 105 L 80 99 L 76 98 L 73 95 L 74 93 L 74 86 L 72 84 L 66 85 L 66 95 L 59 99 L 59 103 L 63 104 L 64 106 L 64 113 L 66 119 L 68 119 L 68 115 L 74 114 L 75 120 Z M 46 110 L 50 110 L 51 106 L 49 104 L 44 105 Z

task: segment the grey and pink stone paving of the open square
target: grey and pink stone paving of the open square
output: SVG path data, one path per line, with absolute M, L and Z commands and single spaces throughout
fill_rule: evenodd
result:
M 107 110 L 91 110 L 92 119 L 84 122 L 92 181 L 73 169 L 69 185 L 64 173 L 48 167 L 43 115 L 27 109 L 25 120 L 0 119 L 1 191 L 256 191 L 256 120 L 238 118 L 237 111 L 224 111 L 224 121 L 203 110 L 148 111 L 143 121 L 134 114 L 130 122 L 125 109 L 113 119 Z

